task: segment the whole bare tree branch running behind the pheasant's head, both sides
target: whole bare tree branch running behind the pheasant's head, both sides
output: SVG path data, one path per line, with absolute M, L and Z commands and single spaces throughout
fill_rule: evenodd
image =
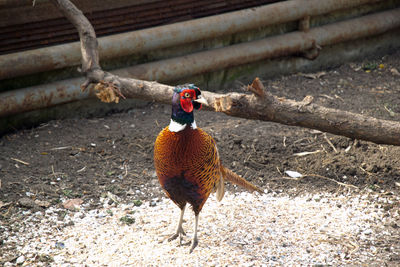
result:
M 52 1 L 79 32 L 82 72 L 86 76 L 82 89 L 97 84 L 97 89 L 106 91 L 97 94 L 105 102 L 118 101 L 121 96 L 170 103 L 172 86 L 104 72 L 100 68 L 97 39 L 90 22 L 69 0 Z M 230 116 L 312 128 L 377 144 L 400 145 L 399 122 L 325 108 L 313 104 L 310 96 L 301 102 L 277 98 L 265 90 L 258 78 L 250 85 L 249 91 L 253 94 L 216 94 L 206 91 L 202 91 L 202 94 L 210 103 L 209 109 Z

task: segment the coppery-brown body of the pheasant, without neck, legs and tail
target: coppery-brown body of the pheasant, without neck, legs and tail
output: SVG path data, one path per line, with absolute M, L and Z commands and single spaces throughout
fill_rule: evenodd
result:
M 214 139 L 201 129 L 164 128 L 155 143 L 154 163 L 162 188 L 181 209 L 190 203 L 201 211 L 221 177 Z

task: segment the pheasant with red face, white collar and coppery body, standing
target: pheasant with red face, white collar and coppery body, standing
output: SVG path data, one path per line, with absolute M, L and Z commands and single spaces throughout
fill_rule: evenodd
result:
M 181 209 L 176 232 L 168 239 L 182 236 L 183 215 L 189 203 L 195 214 L 194 234 L 190 253 L 198 244 L 199 213 L 211 192 L 218 201 L 224 196 L 224 180 L 250 191 L 263 191 L 224 167 L 219 159 L 214 139 L 197 128 L 194 109 L 207 105 L 198 87 L 193 84 L 177 86 L 172 96 L 169 126 L 158 135 L 154 146 L 154 165 L 158 180 L 166 195 Z

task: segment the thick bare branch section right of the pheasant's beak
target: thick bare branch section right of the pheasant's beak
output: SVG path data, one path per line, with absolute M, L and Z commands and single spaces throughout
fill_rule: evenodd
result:
M 215 99 L 216 111 L 231 116 L 301 126 L 371 141 L 400 145 L 400 123 L 379 120 L 347 111 L 325 108 L 307 102 L 278 99 L 269 92 L 260 101 L 254 96 L 229 94 Z

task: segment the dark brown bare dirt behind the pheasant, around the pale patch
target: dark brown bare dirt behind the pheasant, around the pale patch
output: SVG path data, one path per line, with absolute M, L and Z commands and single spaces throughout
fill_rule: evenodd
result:
M 326 107 L 400 121 L 399 71 L 397 52 L 264 83 L 277 96 L 301 100 L 312 95 L 315 103 Z M 42 210 L 60 205 L 61 199 L 80 198 L 95 208 L 107 192 L 125 201 L 161 196 L 153 144 L 169 118 L 170 106 L 149 103 L 126 113 L 51 121 L 2 136 L 1 225 L 15 223 L 12 215 L 20 210 Z M 197 112 L 195 119 L 215 138 L 227 167 L 269 191 L 290 196 L 360 190 L 400 194 L 399 147 L 208 111 Z M 313 153 L 296 155 L 300 152 Z M 290 178 L 285 174 L 288 170 L 304 176 Z M 229 186 L 228 190 L 238 189 Z M 387 206 L 399 208 L 399 203 Z M 399 244 L 399 226 L 392 226 L 393 239 L 383 241 L 383 247 Z M 1 246 L 2 229 L 0 255 L 7 258 L 0 263 L 13 260 L 17 247 Z M 388 258 L 400 263 L 399 256 Z

